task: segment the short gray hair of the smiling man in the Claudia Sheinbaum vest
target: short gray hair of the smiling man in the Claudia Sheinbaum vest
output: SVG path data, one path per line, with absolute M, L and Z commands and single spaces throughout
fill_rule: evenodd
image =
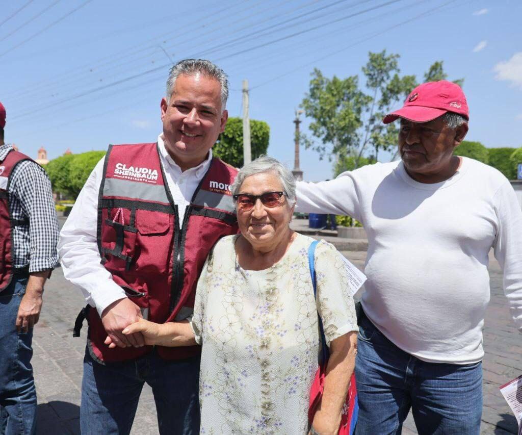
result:
M 185 74 L 195 76 L 201 74 L 206 77 L 215 78 L 221 85 L 221 110 L 227 107 L 229 81 L 227 74 L 217 65 L 205 59 L 184 59 L 170 68 L 169 78 L 167 79 L 167 100 L 170 100 L 176 78 Z

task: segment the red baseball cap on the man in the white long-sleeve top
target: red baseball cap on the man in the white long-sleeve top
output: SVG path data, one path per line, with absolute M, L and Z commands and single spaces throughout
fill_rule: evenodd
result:
M 389 124 L 399 117 L 413 122 L 428 122 L 446 112 L 458 113 L 469 121 L 468 103 L 464 92 L 459 85 L 451 81 L 429 81 L 413 89 L 402 109 L 388 113 L 383 122 Z

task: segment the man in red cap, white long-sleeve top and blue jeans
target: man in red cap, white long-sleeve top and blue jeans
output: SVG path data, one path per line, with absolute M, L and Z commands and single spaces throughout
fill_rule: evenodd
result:
M 366 229 L 358 433 L 400 433 L 411 408 L 421 434 L 478 434 L 488 254 L 520 328 L 522 212 L 504 175 L 453 154 L 469 121 L 459 86 L 418 86 L 383 122 L 397 119 L 400 161 L 300 182 L 297 206 Z

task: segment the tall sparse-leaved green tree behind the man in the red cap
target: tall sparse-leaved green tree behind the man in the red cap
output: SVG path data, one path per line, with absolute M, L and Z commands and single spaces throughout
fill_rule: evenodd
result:
M 314 69 L 301 107 L 311 120 L 311 136 L 321 142 L 314 142 L 303 134 L 301 143 L 318 151 L 321 159 L 353 156 L 356 168 L 362 157 L 377 160 L 379 150 L 394 148 L 398 126 L 396 123 L 385 125 L 382 119 L 417 86 L 415 76 L 399 75 L 398 60 L 398 54 L 387 54 L 386 50 L 370 52 L 362 68 L 366 79 L 364 90 L 360 88 L 358 76 L 330 79 Z M 442 62 L 435 62 L 424 78 L 434 80 L 446 76 Z M 461 79 L 457 81 L 461 83 Z

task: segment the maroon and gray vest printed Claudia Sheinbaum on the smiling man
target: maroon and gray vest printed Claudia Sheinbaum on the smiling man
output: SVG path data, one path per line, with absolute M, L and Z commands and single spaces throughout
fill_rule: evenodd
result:
M 185 211 L 165 182 L 157 144 L 111 145 L 98 199 L 98 249 L 114 282 L 152 322 L 185 319 L 212 246 L 238 232 L 229 186 L 238 171 L 213 158 Z M 88 345 L 98 361 L 138 358 L 152 347 L 109 349 L 97 310 L 89 310 Z M 164 359 L 198 355 L 199 346 L 157 346 Z

